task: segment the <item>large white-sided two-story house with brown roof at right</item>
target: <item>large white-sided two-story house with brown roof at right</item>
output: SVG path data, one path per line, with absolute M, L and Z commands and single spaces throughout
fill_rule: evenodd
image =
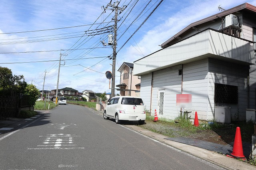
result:
M 256 7 L 248 3 L 188 25 L 134 61 L 146 109 L 175 119 L 177 94 L 191 94 L 191 117 L 197 111 L 198 119 L 214 120 L 220 107 L 245 120 L 246 109 L 256 109 L 255 42 Z

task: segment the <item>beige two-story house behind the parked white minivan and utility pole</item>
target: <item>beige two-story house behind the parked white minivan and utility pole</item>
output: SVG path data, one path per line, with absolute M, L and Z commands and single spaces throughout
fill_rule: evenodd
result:
M 118 69 L 120 84 L 116 85 L 121 96 L 140 96 L 140 76 L 133 75 L 133 63 L 124 62 Z

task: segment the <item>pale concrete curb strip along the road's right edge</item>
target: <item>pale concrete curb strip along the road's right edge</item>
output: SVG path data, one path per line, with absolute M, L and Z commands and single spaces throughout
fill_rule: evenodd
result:
M 91 108 L 88 108 L 88 109 L 90 109 L 94 113 L 103 117 L 103 111 L 95 111 Z M 229 158 L 223 154 L 219 154 L 217 152 L 213 152 L 213 151 L 199 148 L 196 146 L 191 146 L 188 144 L 183 144 L 183 143 L 164 139 L 164 138 L 168 138 L 168 136 L 164 136 L 162 134 L 158 134 L 156 132 L 146 130 L 146 129 L 138 127 L 136 125 L 122 125 L 122 126 L 129 128 L 131 130 L 134 130 L 135 132 L 138 132 L 145 136 L 148 136 L 154 140 L 157 140 L 158 142 L 162 142 L 163 144 L 167 144 L 168 146 L 171 146 L 173 148 L 176 148 L 178 150 L 181 150 L 183 152 L 186 152 L 188 154 L 191 154 L 191 155 L 201 158 L 203 160 L 209 161 L 211 163 L 214 163 L 214 164 L 221 166 L 223 168 L 226 168 L 226 169 L 255 170 L 255 166 L 252 166 L 246 162 L 242 162 L 242 161 L 236 160 L 234 158 Z

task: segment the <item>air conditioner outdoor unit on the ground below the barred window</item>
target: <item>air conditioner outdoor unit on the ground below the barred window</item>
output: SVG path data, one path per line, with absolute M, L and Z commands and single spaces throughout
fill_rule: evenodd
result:
M 219 123 L 231 123 L 231 108 L 215 106 L 214 120 Z

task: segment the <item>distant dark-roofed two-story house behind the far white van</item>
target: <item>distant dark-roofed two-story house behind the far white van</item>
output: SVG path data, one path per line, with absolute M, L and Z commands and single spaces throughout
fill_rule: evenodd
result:
M 52 90 L 52 93 L 56 95 L 56 89 Z M 78 90 L 72 89 L 70 87 L 58 89 L 58 97 L 71 97 L 73 99 L 78 99 L 78 100 L 81 100 L 82 98 Z

